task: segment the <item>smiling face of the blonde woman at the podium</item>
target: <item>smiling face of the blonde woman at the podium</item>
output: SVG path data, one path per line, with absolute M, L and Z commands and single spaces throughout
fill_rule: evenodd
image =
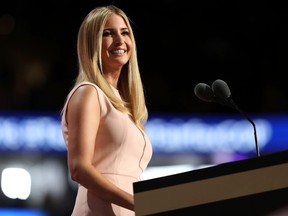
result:
M 104 73 L 120 70 L 131 56 L 132 41 L 128 27 L 121 16 L 111 15 L 104 26 L 102 39 L 102 66 Z

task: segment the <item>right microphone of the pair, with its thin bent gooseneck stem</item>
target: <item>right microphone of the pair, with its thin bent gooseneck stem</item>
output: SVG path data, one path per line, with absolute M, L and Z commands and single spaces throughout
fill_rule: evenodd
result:
M 259 152 L 259 146 L 258 146 L 258 141 L 257 141 L 257 132 L 256 132 L 256 125 L 255 123 L 249 118 L 249 116 L 243 112 L 239 106 L 232 100 L 231 98 L 231 92 L 223 80 L 217 79 L 212 83 L 212 91 L 215 93 L 217 97 L 220 97 L 227 102 L 229 102 L 236 110 L 238 110 L 252 125 L 254 129 L 254 138 L 255 138 L 255 144 L 256 144 L 256 154 L 258 157 L 260 157 L 260 152 Z

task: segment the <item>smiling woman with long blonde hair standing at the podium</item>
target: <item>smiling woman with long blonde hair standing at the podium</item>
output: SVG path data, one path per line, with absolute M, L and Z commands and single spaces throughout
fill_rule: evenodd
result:
M 72 215 L 135 215 L 133 182 L 152 157 L 136 44 L 127 15 L 97 7 L 78 33 L 79 73 L 62 110 Z

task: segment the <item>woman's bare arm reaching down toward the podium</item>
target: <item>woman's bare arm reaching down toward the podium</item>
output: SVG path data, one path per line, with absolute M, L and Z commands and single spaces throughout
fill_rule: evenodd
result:
M 115 186 L 92 165 L 100 121 L 99 100 L 94 87 L 82 86 L 76 90 L 69 101 L 66 117 L 71 178 L 101 199 L 134 210 L 133 195 Z

